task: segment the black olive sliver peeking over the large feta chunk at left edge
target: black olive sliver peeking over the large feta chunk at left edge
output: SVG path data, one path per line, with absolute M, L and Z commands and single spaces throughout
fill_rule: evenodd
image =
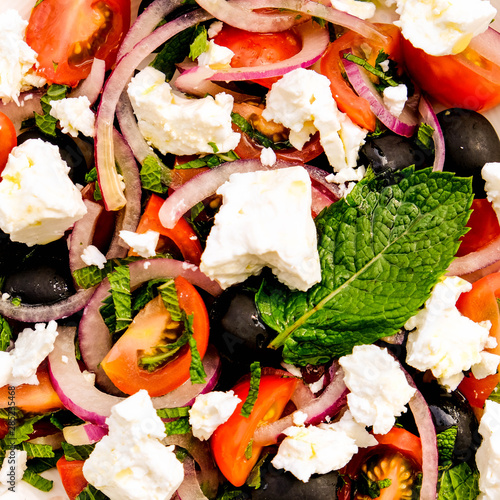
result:
M 67 134 L 63 134 L 60 130 L 56 131 L 56 136 L 52 137 L 45 135 L 38 129 L 30 129 L 20 134 L 17 138 L 17 144 L 22 144 L 28 139 L 42 139 L 45 142 L 50 142 L 59 148 L 61 158 L 68 164 L 70 168 L 69 177 L 74 183 L 85 185 L 85 173 L 87 172 L 87 161 L 80 147 Z

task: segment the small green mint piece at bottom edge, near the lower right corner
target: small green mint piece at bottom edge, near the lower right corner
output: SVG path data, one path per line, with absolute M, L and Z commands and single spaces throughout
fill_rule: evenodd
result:
M 447 469 L 441 475 L 437 500 L 474 500 L 479 495 L 479 472 L 467 462 Z

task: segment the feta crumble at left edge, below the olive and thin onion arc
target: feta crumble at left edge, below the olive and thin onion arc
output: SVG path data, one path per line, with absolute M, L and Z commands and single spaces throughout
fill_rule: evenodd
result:
M 0 386 L 38 385 L 36 370 L 54 349 L 58 335 L 57 323 L 36 323 L 34 330 L 25 328 L 17 337 L 14 349 L 0 353 L 2 368 Z

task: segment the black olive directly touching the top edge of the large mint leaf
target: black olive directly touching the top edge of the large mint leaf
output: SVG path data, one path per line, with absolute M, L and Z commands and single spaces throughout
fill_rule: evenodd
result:
M 367 138 L 359 151 L 358 164 L 371 166 L 375 173 L 394 172 L 415 165 L 432 165 L 433 155 L 417 147 L 412 139 L 395 134 Z

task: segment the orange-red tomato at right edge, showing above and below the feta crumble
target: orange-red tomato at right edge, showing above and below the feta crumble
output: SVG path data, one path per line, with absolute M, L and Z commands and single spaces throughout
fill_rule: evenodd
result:
M 500 273 L 492 273 L 474 282 L 470 291 L 460 295 L 457 300 L 457 309 L 472 321 L 491 321 L 490 336 L 500 342 L 498 298 L 500 298 Z M 487 351 L 500 354 L 500 345 Z M 458 390 L 467 398 L 471 406 L 482 408 L 499 381 L 498 374 L 481 380 L 477 380 L 470 374 L 462 380 Z

